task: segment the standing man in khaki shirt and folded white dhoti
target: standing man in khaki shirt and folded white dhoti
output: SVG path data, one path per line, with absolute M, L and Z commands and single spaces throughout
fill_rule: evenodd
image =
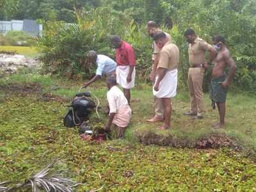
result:
M 170 42 L 163 31 L 158 31 L 153 38 L 157 46 L 162 47 L 159 53 L 156 83 L 153 88 L 154 96 L 161 99 L 164 106 L 164 125 L 159 129 L 170 129 L 171 98 L 177 93 L 179 48 Z

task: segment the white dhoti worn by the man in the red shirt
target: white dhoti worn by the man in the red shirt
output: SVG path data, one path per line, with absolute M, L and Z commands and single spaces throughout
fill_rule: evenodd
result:
M 116 83 L 120 84 L 122 88 L 131 89 L 134 87 L 135 84 L 135 67 L 132 72 L 132 81 L 127 83 L 127 76 L 129 74 L 130 66 L 117 66 L 116 67 Z

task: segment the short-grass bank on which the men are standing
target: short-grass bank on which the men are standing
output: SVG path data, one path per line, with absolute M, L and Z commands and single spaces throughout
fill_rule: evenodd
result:
M 70 81 L 68 79 L 58 79 L 51 76 L 40 74 L 15 74 L 3 78 L 0 84 L 8 83 L 40 83 L 44 88 L 44 93 L 51 92 L 54 95 L 72 99 L 78 92 L 81 81 Z M 106 106 L 106 84 L 104 81 L 92 84 L 83 91 L 92 92 L 100 100 L 100 116 L 106 120 L 104 107 Z M 189 109 L 189 97 L 186 92 L 179 92 L 177 97 L 172 100 L 172 127 L 170 131 L 159 131 L 157 124 L 148 124 L 147 118 L 154 115 L 152 88 L 150 84 L 140 83 L 132 90 L 131 106 L 133 110 L 131 124 L 125 132 L 127 140 L 140 140 L 145 144 L 170 145 L 173 147 L 193 148 L 198 145 L 198 141 L 210 135 L 227 135 L 242 143 L 244 150 L 256 151 L 256 111 L 255 100 L 250 95 L 242 93 L 228 93 L 227 96 L 227 115 L 226 128 L 216 130 L 212 125 L 218 121 L 218 110 L 211 109 L 211 100 L 205 94 L 205 105 L 207 113 L 203 120 L 192 120 L 183 113 Z M 148 139 L 148 141 L 147 141 Z M 159 140 L 159 141 L 157 141 Z M 169 142 L 166 142 L 169 141 Z

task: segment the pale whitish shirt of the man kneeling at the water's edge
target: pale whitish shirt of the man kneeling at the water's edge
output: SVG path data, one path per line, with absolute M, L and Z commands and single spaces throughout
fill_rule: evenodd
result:
M 118 109 L 129 106 L 128 101 L 124 96 L 124 93 L 118 88 L 113 86 L 107 93 L 107 99 L 109 104 L 109 113 L 117 113 Z

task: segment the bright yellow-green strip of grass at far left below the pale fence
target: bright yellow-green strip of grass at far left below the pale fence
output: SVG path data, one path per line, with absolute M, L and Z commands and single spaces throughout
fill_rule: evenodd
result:
M 38 51 L 35 47 L 24 47 L 24 46 L 0 46 L 0 51 L 15 51 L 17 54 L 22 54 L 28 57 L 38 56 Z

